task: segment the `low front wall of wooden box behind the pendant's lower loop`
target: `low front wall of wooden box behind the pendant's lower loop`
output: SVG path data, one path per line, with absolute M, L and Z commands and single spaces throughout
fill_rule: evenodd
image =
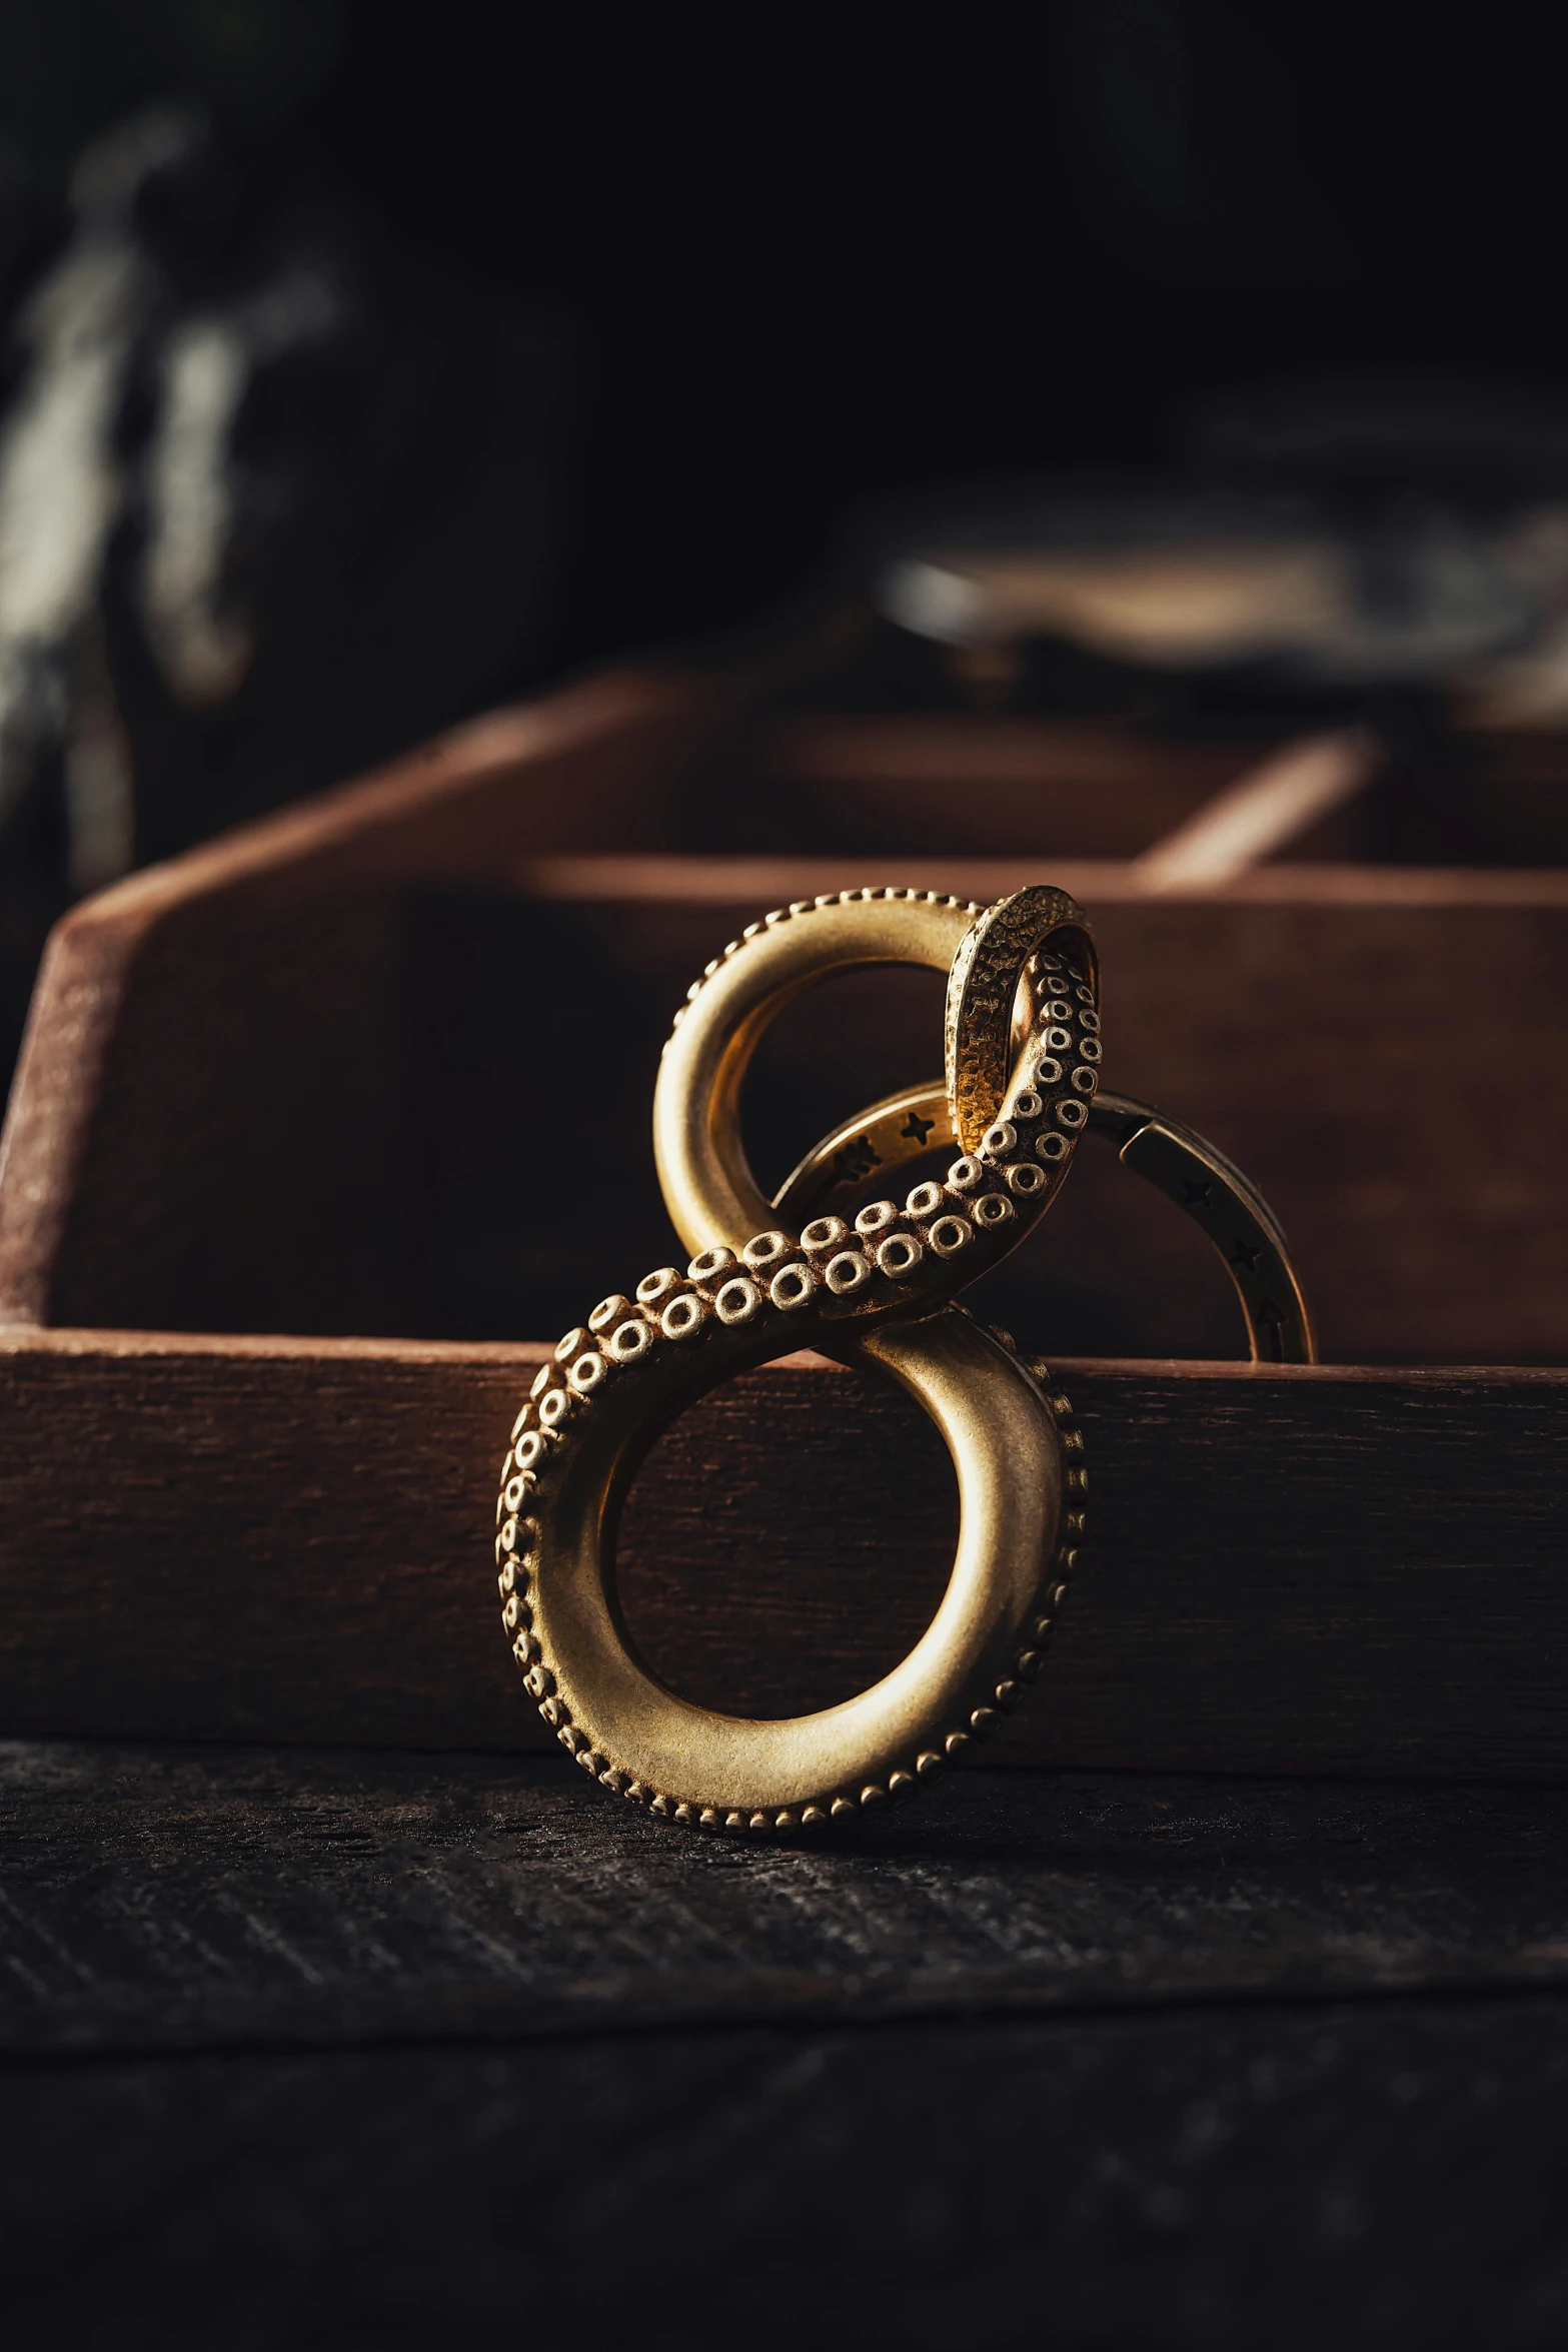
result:
M 0 1729 L 541 1748 L 498 1628 L 494 1475 L 534 1348 L 12 1331 Z M 997 1762 L 1568 1773 L 1568 1376 L 1058 1364 L 1091 1541 Z M 919 1625 L 947 1470 L 891 1390 L 795 1359 L 632 1494 L 623 1592 L 738 1712 Z

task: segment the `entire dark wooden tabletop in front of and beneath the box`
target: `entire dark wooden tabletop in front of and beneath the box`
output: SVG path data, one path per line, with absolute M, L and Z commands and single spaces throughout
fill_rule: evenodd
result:
M 1559 1790 L 0 1750 L 7 2352 L 1544 2352 Z

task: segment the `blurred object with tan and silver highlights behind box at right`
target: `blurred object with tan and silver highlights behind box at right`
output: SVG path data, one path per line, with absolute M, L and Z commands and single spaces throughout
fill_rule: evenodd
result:
M 1011 656 L 980 677 L 1060 640 L 1298 699 L 1432 687 L 1502 724 L 1568 720 L 1568 397 L 1293 379 L 1220 421 L 1199 463 L 1143 480 L 893 501 L 856 534 L 877 604 Z

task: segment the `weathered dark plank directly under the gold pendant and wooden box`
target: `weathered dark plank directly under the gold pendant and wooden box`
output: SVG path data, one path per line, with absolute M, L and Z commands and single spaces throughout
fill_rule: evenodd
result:
M 1568 1792 L 966 1771 L 677 1832 L 564 1759 L 0 1743 L 0 2056 L 1568 1983 Z

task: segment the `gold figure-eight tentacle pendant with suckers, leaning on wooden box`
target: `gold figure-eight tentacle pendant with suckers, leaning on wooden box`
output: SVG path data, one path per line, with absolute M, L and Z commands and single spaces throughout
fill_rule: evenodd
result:
M 853 1228 L 823 1216 L 785 1232 L 733 1124 L 757 1035 L 825 969 L 943 948 L 947 1096 L 966 1150 L 903 1207 L 870 1202 Z M 813 1830 L 917 1788 L 1039 1675 L 1081 1526 L 1081 1439 L 1065 1399 L 952 1298 L 1056 1197 L 1095 1065 L 1088 927 L 1044 887 L 987 910 L 846 891 L 748 927 L 710 964 L 656 1096 L 661 1183 L 693 1258 L 567 1334 L 517 1416 L 496 1505 L 503 1621 L 529 1693 L 602 1785 L 705 1828 Z M 686 1404 L 813 1343 L 889 1371 L 947 1439 L 961 1505 L 952 1578 L 910 1656 L 858 1698 L 785 1722 L 717 1715 L 632 1651 L 611 1583 L 618 1505 Z

